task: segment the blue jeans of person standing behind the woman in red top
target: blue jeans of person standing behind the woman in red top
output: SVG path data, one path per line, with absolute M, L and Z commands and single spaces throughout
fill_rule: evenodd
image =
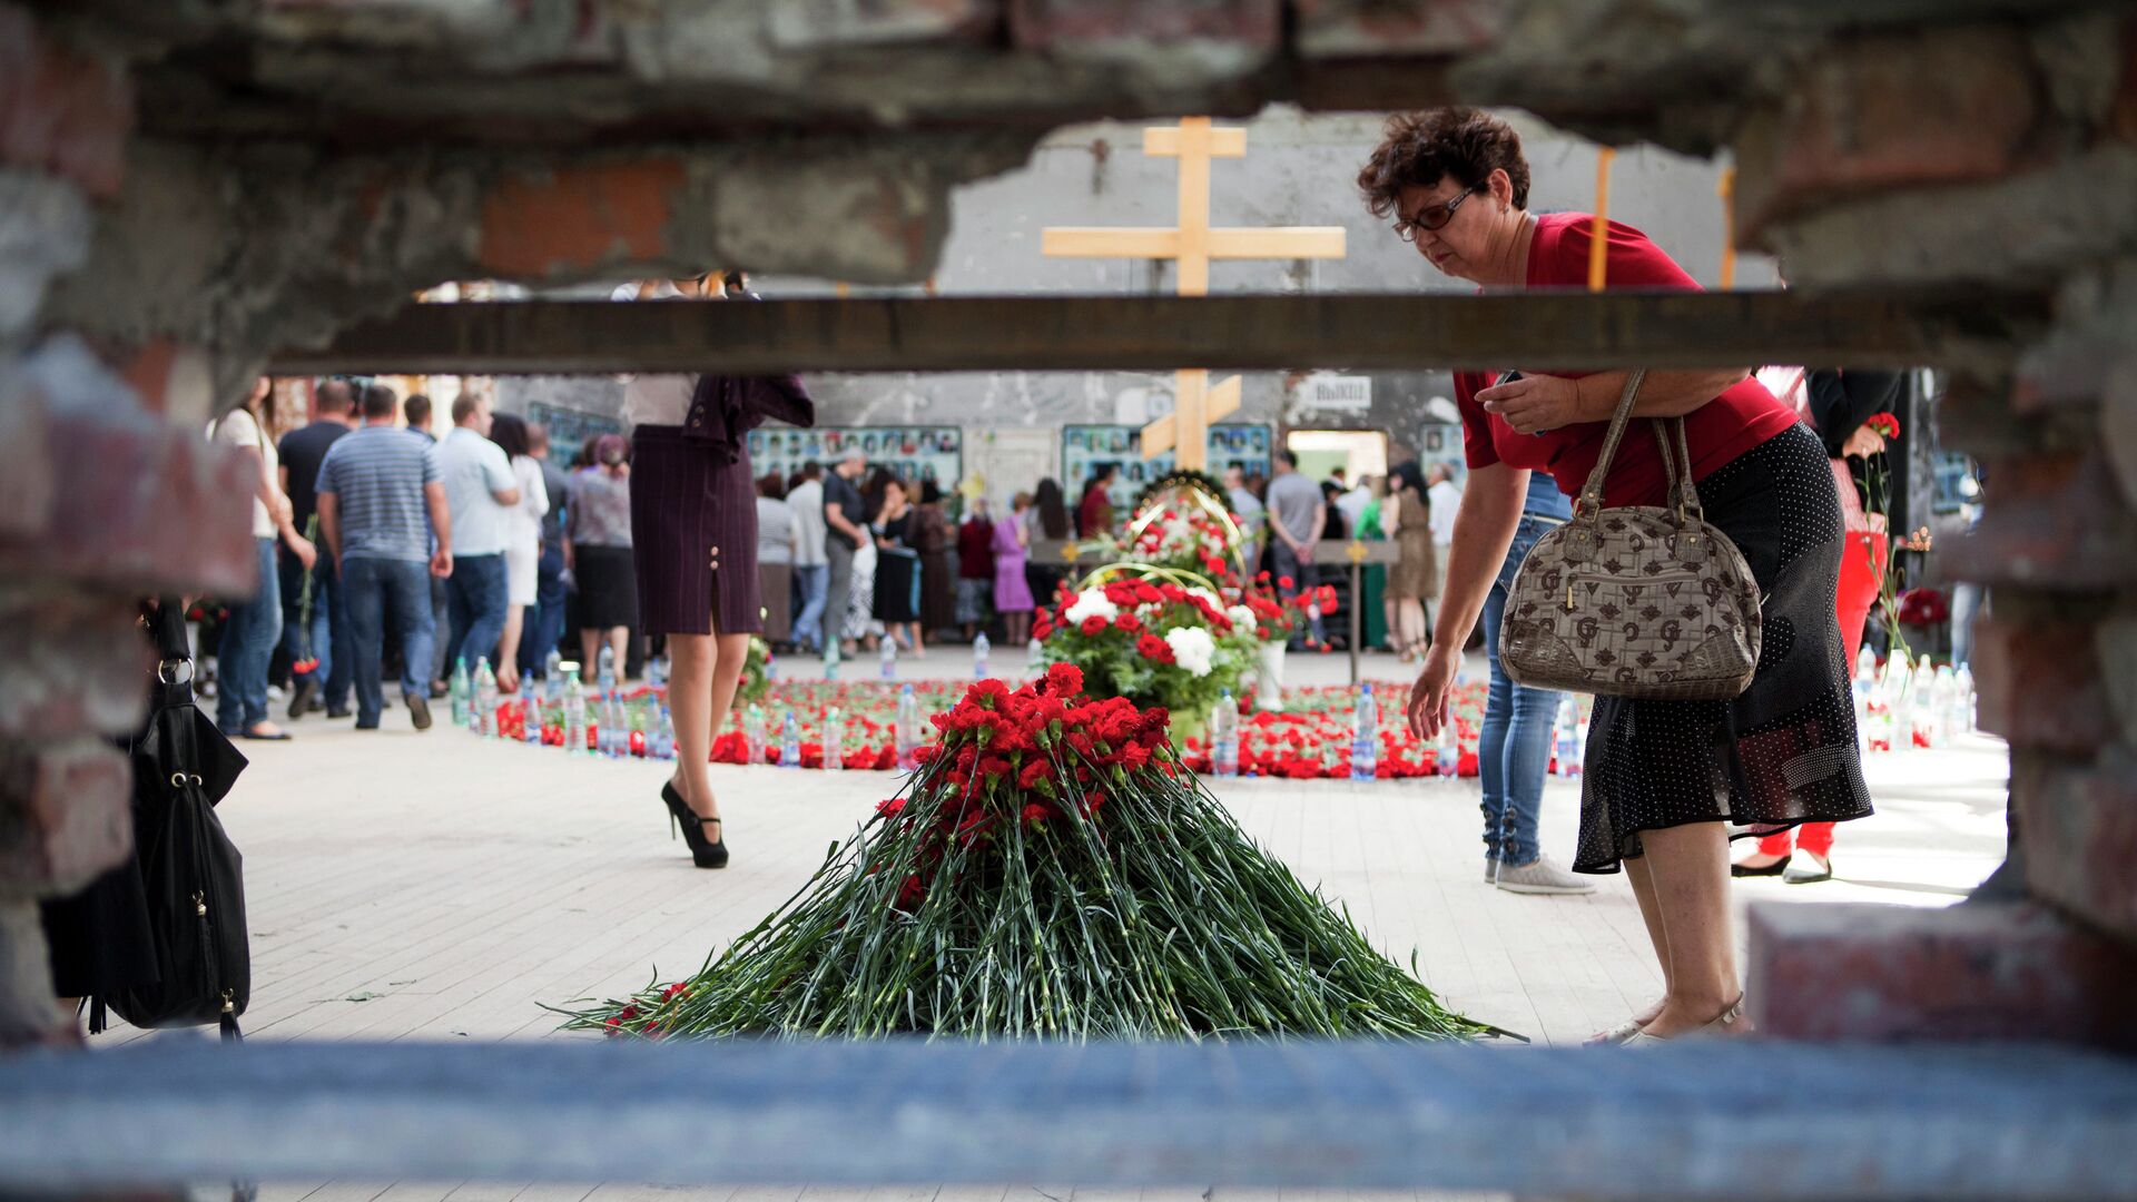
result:
M 1558 693 L 1524 689 L 1498 665 L 1498 622 L 1507 612 L 1513 573 L 1528 558 L 1528 548 L 1556 526 L 1543 518 L 1522 518 L 1507 550 L 1507 563 L 1483 601 L 1483 648 L 1492 663 L 1492 691 L 1485 695 L 1483 729 L 1477 734 L 1477 776 L 1483 783 L 1483 847 L 1502 864 L 1532 864 L 1537 847 L 1537 815 L 1543 811 L 1543 774 L 1551 766 L 1551 725 L 1558 721 Z

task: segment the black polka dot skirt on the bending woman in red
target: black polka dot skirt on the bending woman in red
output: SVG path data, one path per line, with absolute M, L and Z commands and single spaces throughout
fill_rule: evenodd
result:
M 1729 821 L 1744 838 L 1870 813 L 1836 616 L 1846 543 L 1825 447 L 1791 426 L 1701 479 L 1699 500 L 1765 597 L 1759 669 L 1733 702 L 1596 697 L 1577 873 L 1639 858 L 1643 830 Z

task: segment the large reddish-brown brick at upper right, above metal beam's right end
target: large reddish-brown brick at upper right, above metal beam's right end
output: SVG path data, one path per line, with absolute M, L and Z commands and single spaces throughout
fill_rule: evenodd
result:
M 1840 41 L 1740 130 L 1740 237 L 1825 201 L 2015 173 L 2039 156 L 2041 107 L 2013 28 Z

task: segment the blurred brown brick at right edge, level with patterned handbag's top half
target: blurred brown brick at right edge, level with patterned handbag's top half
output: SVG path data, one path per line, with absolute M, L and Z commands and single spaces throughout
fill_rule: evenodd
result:
M 2047 592 L 2137 586 L 2137 518 L 2094 447 L 1985 462 L 1990 503 L 1947 548 L 1945 575 Z

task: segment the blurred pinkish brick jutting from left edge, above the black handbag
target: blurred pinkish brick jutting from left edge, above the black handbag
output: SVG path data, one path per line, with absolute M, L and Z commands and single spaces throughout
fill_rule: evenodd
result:
M 248 460 L 158 421 L 79 342 L 0 368 L 0 580 L 120 597 L 259 584 Z

